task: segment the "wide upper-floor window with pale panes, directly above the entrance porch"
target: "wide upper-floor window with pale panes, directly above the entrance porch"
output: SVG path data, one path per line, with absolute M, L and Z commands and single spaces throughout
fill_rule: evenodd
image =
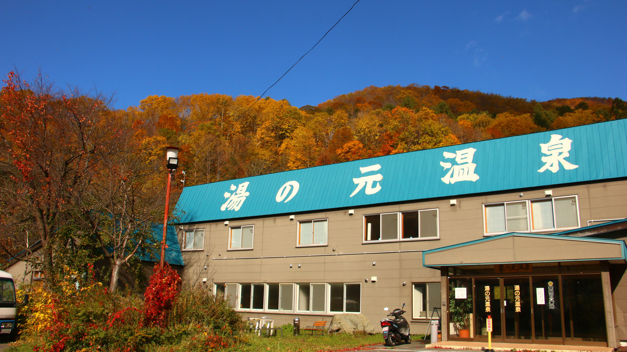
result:
M 579 227 L 576 195 L 485 204 L 483 209 L 486 234 Z

